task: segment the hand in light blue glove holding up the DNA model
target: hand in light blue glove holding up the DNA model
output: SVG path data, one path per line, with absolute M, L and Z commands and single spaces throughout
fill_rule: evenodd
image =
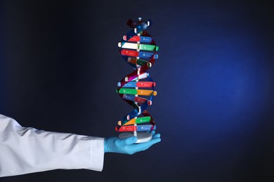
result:
M 126 139 L 119 139 L 118 137 L 107 137 L 105 138 L 104 148 L 105 153 L 124 153 L 133 154 L 140 151 L 145 151 L 150 148 L 153 144 L 161 141 L 160 134 L 155 134 L 153 130 L 151 132 L 152 139 L 150 141 L 134 144 L 137 141 L 137 137 L 129 137 Z

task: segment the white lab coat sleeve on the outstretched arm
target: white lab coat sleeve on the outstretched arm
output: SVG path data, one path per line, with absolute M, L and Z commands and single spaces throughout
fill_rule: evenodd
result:
M 104 138 L 22 127 L 0 114 L 0 176 L 52 169 L 103 170 Z

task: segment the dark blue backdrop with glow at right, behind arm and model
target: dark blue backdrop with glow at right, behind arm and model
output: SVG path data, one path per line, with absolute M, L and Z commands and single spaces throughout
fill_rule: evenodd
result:
M 26 127 L 117 136 L 131 67 L 117 43 L 142 17 L 159 45 L 150 113 L 161 143 L 105 154 L 103 172 L 0 181 L 273 181 L 274 14 L 266 1 L 2 1 L 0 109 Z

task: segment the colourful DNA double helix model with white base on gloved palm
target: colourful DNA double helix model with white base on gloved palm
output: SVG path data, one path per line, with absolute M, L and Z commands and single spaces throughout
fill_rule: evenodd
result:
M 156 130 L 155 120 L 147 110 L 152 105 L 153 97 L 157 95 L 156 83 L 147 71 L 155 63 L 155 59 L 158 59 L 156 51 L 159 47 L 146 31 L 152 25 L 151 20 L 138 18 L 138 21 L 128 20 L 126 24 L 132 29 L 118 43 L 119 53 L 134 71 L 117 84 L 116 92 L 133 106 L 133 111 L 118 121 L 115 130 L 122 132 L 119 134 L 120 139 L 136 136 L 136 143 L 142 143 L 150 141 L 150 131 Z

